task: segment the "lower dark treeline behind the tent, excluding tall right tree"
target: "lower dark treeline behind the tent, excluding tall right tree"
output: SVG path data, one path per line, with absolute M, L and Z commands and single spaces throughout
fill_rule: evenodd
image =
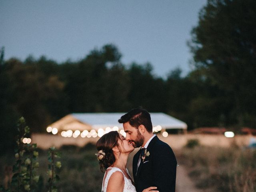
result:
M 171 70 L 166 79 L 154 76 L 150 63 L 120 62 L 113 44 L 92 50 L 77 62 L 58 64 L 41 56 L 23 62 L 11 58 L 1 64 L 1 127 L 10 128 L 24 116 L 33 132 L 70 113 L 128 112 L 142 107 L 164 112 L 188 124 L 238 126 L 232 98 L 200 70 L 182 77 Z M 239 126 L 251 126 L 244 121 Z

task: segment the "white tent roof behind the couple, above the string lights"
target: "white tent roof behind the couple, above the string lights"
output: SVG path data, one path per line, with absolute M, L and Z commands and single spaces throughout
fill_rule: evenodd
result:
M 118 119 L 125 113 L 72 113 L 64 116 L 60 120 L 49 125 L 62 130 L 98 130 L 100 128 L 118 127 L 122 129 L 122 124 Z M 150 113 L 153 127 L 161 126 L 163 129 L 187 129 L 187 124 L 164 113 Z

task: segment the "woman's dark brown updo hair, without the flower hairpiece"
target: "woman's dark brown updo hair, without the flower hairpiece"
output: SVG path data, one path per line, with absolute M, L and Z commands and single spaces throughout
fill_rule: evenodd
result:
M 113 147 L 118 146 L 118 140 L 121 139 L 117 131 L 111 131 L 104 134 L 96 143 L 97 150 L 102 150 L 105 155 L 103 158 L 98 158 L 100 164 L 100 170 L 105 172 L 105 170 L 112 165 L 116 158 L 112 150 Z

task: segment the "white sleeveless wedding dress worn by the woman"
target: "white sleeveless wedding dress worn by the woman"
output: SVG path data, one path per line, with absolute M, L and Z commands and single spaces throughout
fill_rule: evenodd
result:
M 105 172 L 106 177 L 104 175 L 105 180 L 103 180 L 103 182 L 102 182 L 102 188 L 101 188 L 102 192 L 106 192 L 107 191 L 108 180 L 109 180 L 110 176 L 114 172 L 116 172 L 116 171 L 120 171 L 123 174 L 123 176 L 124 176 L 124 189 L 123 189 L 123 192 L 136 192 L 136 189 L 135 189 L 134 185 L 132 184 L 132 181 L 124 175 L 122 170 L 120 170 L 117 167 L 111 167 L 111 168 L 109 167 L 107 169 L 111 169 L 111 170 L 108 171 L 107 175 L 106 175 L 106 172 Z M 128 173 L 127 169 L 126 169 L 126 172 Z

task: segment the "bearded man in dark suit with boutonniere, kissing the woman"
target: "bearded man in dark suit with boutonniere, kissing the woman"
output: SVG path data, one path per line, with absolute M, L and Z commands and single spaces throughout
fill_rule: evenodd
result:
M 133 157 L 132 172 L 137 192 L 156 186 L 160 192 L 175 192 L 177 161 L 170 146 L 153 134 L 150 114 L 132 109 L 119 120 L 126 140 L 134 148 L 142 147 Z

